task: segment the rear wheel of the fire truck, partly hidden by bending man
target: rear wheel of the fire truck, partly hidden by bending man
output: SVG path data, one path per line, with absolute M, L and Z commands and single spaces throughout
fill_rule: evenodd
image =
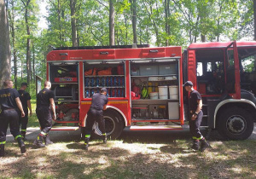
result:
M 125 128 L 124 119 L 121 115 L 113 110 L 107 110 L 104 112 L 105 129 L 109 139 L 116 139 L 120 136 Z M 92 134 L 93 138 L 102 138 L 101 136 Z

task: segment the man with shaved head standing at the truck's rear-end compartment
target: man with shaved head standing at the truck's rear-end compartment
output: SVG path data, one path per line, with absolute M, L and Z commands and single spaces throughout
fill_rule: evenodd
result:
M 37 95 L 37 109 L 39 124 L 41 126 L 41 132 L 38 134 L 38 138 L 34 141 L 34 145 L 38 147 L 45 147 L 45 145 L 52 144 L 49 140 L 49 130 L 52 127 L 52 119 L 55 120 L 55 94 L 50 90 L 51 84 L 49 81 L 44 82 L 44 89 Z M 53 115 L 51 115 L 50 110 Z M 45 143 L 45 145 L 44 145 Z

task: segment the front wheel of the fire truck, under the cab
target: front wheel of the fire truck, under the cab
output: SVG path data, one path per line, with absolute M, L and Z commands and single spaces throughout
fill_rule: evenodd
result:
M 228 108 L 220 114 L 217 130 L 224 139 L 245 140 L 253 133 L 252 115 L 238 107 Z

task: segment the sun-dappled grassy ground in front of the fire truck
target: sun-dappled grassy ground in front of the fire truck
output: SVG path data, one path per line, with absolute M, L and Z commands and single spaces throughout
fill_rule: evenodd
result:
M 38 126 L 35 113 L 29 126 Z M 9 141 L 6 157 L 0 160 L 0 178 L 256 177 L 254 140 L 212 140 L 212 148 L 200 153 L 189 149 L 189 137 L 136 137 L 126 135 L 108 144 L 90 141 L 89 151 L 82 149 L 82 141 L 65 137 L 45 148 L 26 141 L 26 157 L 20 155 L 15 141 Z

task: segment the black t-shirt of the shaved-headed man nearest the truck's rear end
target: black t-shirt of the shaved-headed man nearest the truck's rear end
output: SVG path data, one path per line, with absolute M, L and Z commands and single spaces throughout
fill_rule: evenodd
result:
M 49 99 L 55 98 L 53 91 L 49 89 L 40 90 L 37 95 L 37 107 L 49 107 Z

